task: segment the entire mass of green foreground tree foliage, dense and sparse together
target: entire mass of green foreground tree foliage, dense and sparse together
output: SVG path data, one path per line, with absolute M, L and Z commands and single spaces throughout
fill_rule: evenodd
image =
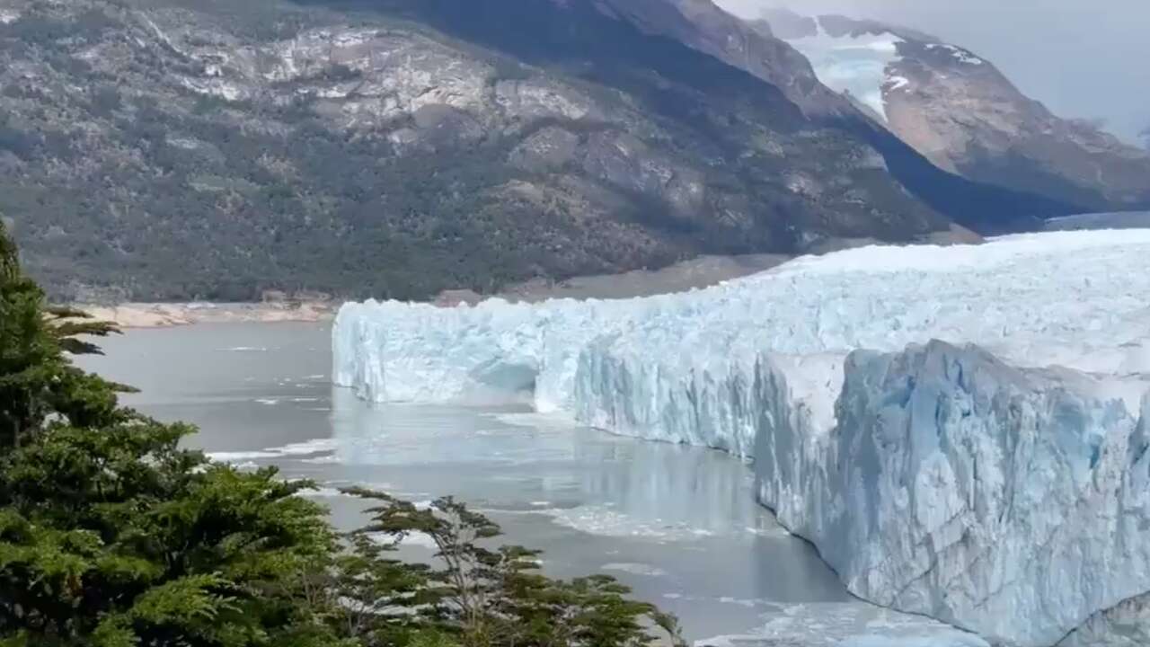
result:
M 2 223 L 0 223 L 2 227 Z M 120 406 L 84 373 L 78 335 L 115 330 L 49 309 L 0 229 L 0 647 L 638 647 L 675 621 L 604 576 L 559 581 L 538 551 L 452 498 L 383 493 L 342 536 L 274 469 L 181 448 L 194 433 Z M 397 558 L 412 533 L 432 564 Z

